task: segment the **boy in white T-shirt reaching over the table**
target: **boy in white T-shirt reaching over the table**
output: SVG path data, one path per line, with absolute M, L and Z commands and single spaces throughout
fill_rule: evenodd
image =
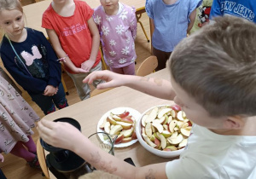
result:
M 97 170 L 124 178 L 254 179 L 255 42 L 255 24 L 237 17 L 220 17 L 174 49 L 167 63 L 171 83 L 109 71 L 94 72 L 84 79 L 89 84 L 96 78 L 106 80 L 99 89 L 126 85 L 174 99 L 194 122 L 180 159 L 134 167 L 93 145 L 70 124 L 42 120 L 38 123 L 39 134 L 47 143 L 79 154 Z

